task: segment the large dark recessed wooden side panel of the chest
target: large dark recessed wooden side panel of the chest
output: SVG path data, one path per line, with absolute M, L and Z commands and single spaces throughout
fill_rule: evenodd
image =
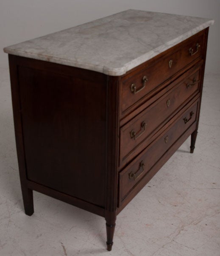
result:
M 17 58 L 28 180 L 104 208 L 106 76 Z

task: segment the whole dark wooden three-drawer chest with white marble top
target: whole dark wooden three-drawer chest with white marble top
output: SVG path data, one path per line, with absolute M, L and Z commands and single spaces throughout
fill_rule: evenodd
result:
M 191 135 L 212 20 L 128 10 L 4 49 L 25 213 L 33 190 L 117 214 Z

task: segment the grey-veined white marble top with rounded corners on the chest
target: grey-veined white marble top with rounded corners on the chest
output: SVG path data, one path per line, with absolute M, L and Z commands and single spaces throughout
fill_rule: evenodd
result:
M 199 17 L 127 10 L 4 51 L 120 76 L 213 23 Z

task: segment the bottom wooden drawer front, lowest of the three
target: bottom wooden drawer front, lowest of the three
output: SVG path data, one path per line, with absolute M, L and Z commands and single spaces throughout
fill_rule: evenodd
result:
M 197 120 L 198 101 L 189 107 L 171 128 L 166 129 L 147 149 L 119 174 L 120 202 L 134 189 L 175 141 Z

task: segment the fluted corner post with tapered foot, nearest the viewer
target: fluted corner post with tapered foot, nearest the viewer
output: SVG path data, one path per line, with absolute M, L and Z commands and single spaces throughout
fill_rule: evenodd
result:
M 119 148 L 119 81 L 108 76 L 106 126 L 106 232 L 107 250 L 111 250 L 117 215 L 118 148 Z

